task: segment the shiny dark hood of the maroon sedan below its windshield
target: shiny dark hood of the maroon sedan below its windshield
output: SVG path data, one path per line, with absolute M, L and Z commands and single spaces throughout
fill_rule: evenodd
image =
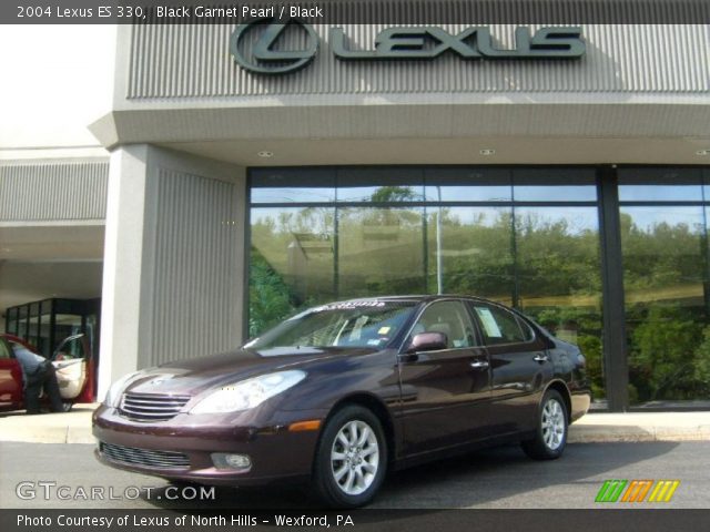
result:
M 333 358 L 376 352 L 368 348 L 276 348 L 265 351 L 239 349 L 168 362 L 140 372 L 124 391 L 194 396 L 258 375 L 287 369 L 304 369 Z

